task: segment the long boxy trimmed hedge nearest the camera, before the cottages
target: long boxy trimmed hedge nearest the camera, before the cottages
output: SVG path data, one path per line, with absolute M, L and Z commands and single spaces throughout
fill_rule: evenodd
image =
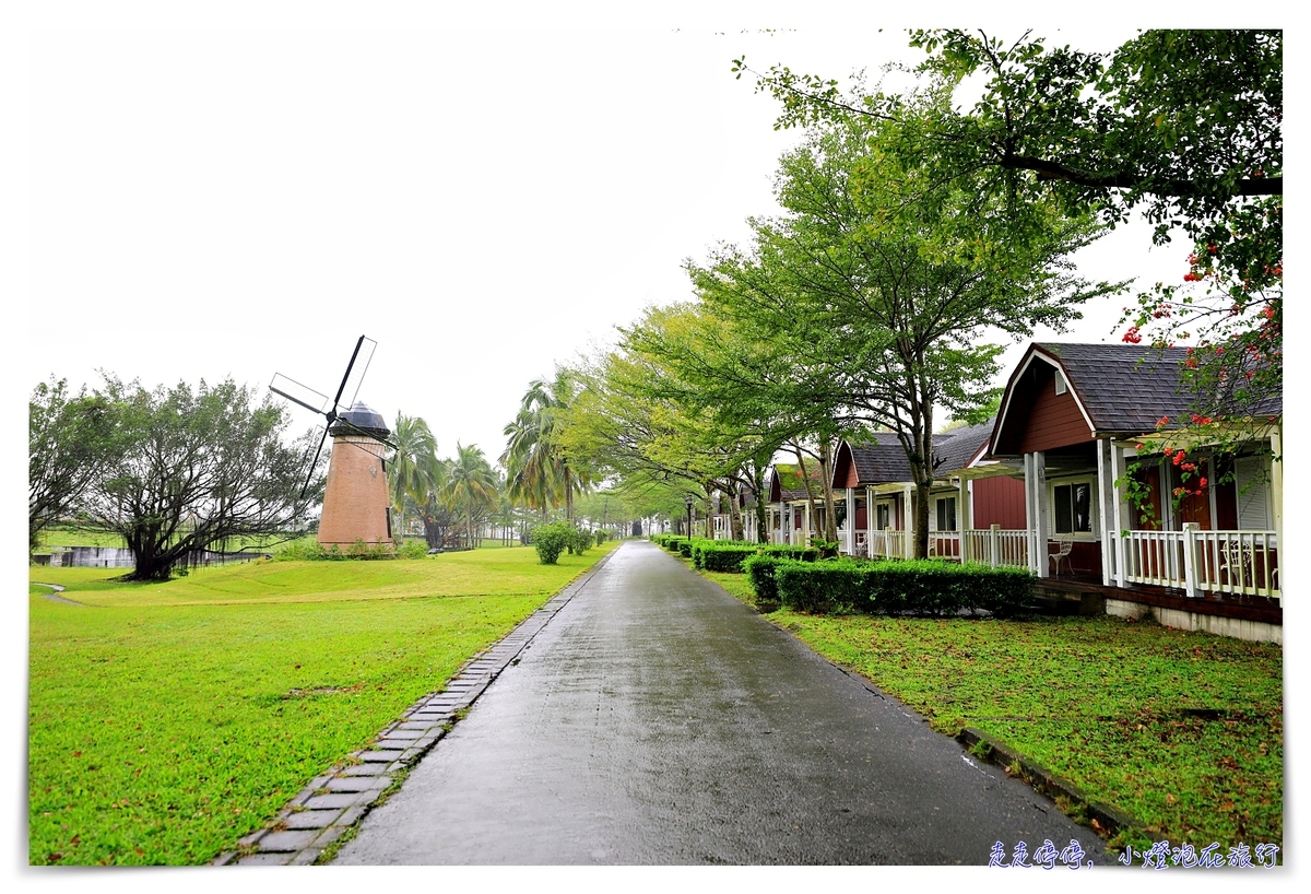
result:
M 763 560 L 763 561 L 762 561 Z M 801 562 L 749 560 L 756 606 L 784 606 L 810 613 L 954 615 L 986 610 L 1007 616 L 1033 594 L 1027 569 L 960 565 L 937 560 Z

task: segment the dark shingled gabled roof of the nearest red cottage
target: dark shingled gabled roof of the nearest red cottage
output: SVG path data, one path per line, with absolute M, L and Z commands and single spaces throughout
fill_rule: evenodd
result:
M 1092 437 L 1105 438 L 1155 431 L 1162 417 L 1186 418 L 1193 401 L 1180 391 L 1186 358 L 1185 347 L 1033 342 L 1007 383 L 994 426 L 992 451 L 999 456 L 1015 455 L 1016 426 L 1025 425 L 1033 400 L 1025 389 L 1025 374 L 1034 363 L 1061 371 Z M 1282 414 L 1282 396 L 1272 398 L 1260 412 Z

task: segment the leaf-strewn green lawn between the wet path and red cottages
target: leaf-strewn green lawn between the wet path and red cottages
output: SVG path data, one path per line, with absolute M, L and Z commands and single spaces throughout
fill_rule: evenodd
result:
M 742 574 L 713 574 L 751 602 Z M 956 734 L 988 733 L 1147 835 L 1283 847 L 1283 651 L 1116 617 L 768 615 Z

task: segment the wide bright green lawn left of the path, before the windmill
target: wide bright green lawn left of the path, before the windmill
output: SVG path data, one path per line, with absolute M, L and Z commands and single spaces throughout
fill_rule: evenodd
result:
M 33 568 L 29 860 L 199 864 L 266 825 L 616 544 L 258 562 L 164 585 Z

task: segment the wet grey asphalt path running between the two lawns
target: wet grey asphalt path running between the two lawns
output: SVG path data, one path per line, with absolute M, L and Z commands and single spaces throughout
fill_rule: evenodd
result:
M 986 864 L 1097 836 L 642 541 L 337 864 Z M 1059 864 L 1058 864 L 1059 868 Z

